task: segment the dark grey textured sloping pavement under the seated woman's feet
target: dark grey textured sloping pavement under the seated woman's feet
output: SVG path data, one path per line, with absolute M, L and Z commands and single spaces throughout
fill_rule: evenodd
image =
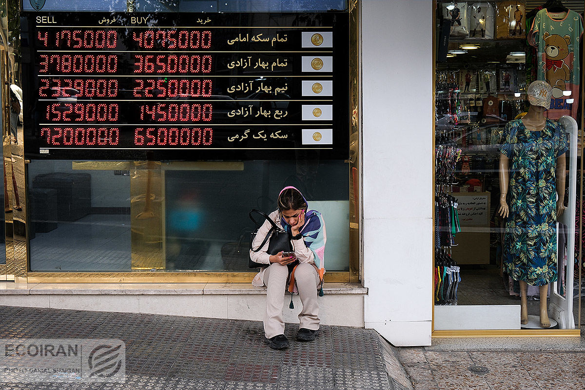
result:
M 261 322 L 198 317 L 0 306 L 0 339 L 122 339 L 126 382 L 0 383 L 43 390 L 354 390 L 405 389 L 388 375 L 402 370 L 392 350 L 368 329 L 321 326 L 315 341 L 271 350 Z

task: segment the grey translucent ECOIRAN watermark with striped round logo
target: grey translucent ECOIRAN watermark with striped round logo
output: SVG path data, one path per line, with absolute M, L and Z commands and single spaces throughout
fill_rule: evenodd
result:
M 126 380 L 126 344 L 119 339 L 0 339 L 0 382 Z

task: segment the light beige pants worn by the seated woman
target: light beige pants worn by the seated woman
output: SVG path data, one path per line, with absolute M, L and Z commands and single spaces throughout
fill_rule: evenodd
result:
M 319 329 L 319 303 L 317 302 L 319 275 L 311 264 L 301 263 L 294 271 L 294 276 L 302 303 L 302 310 L 298 315 L 299 327 L 317 330 Z M 267 287 L 264 335 L 269 339 L 277 334 L 284 334 L 283 305 L 284 291 L 288 287 L 287 279 L 286 265 L 272 263 L 264 271 L 264 285 Z

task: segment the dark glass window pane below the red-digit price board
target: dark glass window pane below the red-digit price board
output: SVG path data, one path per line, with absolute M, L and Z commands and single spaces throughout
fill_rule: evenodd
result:
M 248 213 L 287 185 L 324 216 L 327 269 L 349 270 L 344 161 L 33 160 L 28 178 L 31 271 L 249 271 Z

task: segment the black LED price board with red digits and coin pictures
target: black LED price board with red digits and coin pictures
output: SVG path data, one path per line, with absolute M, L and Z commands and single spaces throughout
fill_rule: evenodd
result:
M 345 12 L 25 12 L 25 154 L 348 158 L 348 23 Z

